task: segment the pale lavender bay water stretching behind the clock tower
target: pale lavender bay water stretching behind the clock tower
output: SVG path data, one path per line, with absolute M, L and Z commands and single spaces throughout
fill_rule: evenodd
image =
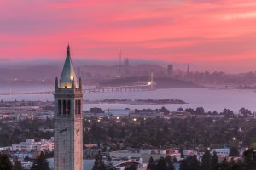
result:
M 1 85 L 0 93 L 3 92 L 35 92 L 54 90 L 49 85 Z M 38 95 L 5 95 L 0 96 L 4 101 L 17 100 L 42 100 L 53 101 L 52 94 Z M 188 104 L 173 105 L 113 105 L 113 104 L 86 104 L 84 110 L 91 107 L 101 107 L 102 109 L 156 109 L 165 106 L 170 111 L 176 111 L 179 107 L 196 108 L 203 107 L 206 111 L 223 111 L 224 108 L 238 112 L 242 107 L 251 111 L 256 111 L 256 93 L 253 90 L 241 89 L 210 89 L 210 88 L 170 88 L 157 89 L 144 92 L 122 92 L 122 93 L 91 93 L 85 94 L 84 100 L 102 99 L 182 99 Z

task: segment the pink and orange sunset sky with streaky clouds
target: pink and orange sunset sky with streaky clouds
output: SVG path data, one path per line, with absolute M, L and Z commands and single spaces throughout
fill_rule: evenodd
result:
M 256 70 L 255 0 L 0 0 L 0 59 L 130 59 Z M 196 68 L 194 68 L 196 70 Z M 200 70 L 198 68 L 198 70 Z

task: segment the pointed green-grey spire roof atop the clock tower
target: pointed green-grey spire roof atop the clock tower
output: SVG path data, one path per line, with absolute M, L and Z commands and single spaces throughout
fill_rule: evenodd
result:
M 61 88 L 72 88 L 72 84 L 74 83 L 75 87 L 78 87 L 76 72 L 73 67 L 72 59 L 70 56 L 70 47 L 69 44 L 67 46 L 67 57 L 63 66 L 63 70 L 61 73 L 60 79 L 60 87 Z

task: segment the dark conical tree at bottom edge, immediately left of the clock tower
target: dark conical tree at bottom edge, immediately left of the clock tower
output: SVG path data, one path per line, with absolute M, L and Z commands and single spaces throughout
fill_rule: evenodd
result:
M 31 170 L 50 170 L 49 163 L 48 163 L 43 151 L 41 152 L 40 156 L 38 156 L 34 160 Z

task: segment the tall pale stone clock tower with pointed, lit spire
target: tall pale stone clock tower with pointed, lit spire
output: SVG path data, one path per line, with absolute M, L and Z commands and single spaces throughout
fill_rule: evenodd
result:
M 55 170 L 83 169 L 83 92 L 67 46 L 60 82 L 55 79 Z

